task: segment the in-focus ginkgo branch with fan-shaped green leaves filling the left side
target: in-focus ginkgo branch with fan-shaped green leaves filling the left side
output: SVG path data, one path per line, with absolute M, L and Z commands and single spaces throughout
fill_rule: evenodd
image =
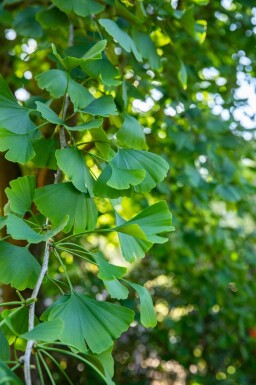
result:
M 13 3 L 4 2 L 7 13 Z M 142 38 L 140 32 L 133 40 L 104 11 L 120 11 L 128 20 L 137 17 L 112 1 L 39 3 L 18 11 L 13 21 L 16 33 L 40 40 L 44 29 L 64 27 L 68 34 L 61 46 L 54 36 L 48 36 L 46 47 L 39 45 L 38 54 L 41 49 L 48 68 L 33 70 L 38 92 L 26 103 L 18 102 L 0 77 L 0 151 L 23 173 L 6 188 L 8 202 L 0 217 L 0 283 L 17 291 L 15 301 L 1 304 L 1 381 L 31 385 L 35 377 L 42 384 L 48 381 L 45 378 L 54 384 L 46 363 L 50 358 L 63 381 L 72 383 L 55 358 L 62 354 L 89 365 L 113 385 L 113 344 L 129 328 L 136 310 L 119 301 L 134 290 L 140 298 L 141 323 L 154 327 L 156 316 L 148 290 L 127 280 L 127 268 L 109 261 L 100 245 L 90 243 L 90 236 L 107 240 L 115 234 L 127 263 L 143 258 L 154 244 L 166 242 L 163 233 L 174 230 L 166 202 L 154 201 L 127 218 L 122 198 L 146 196 L 166 177 L 169 165 L 147 151 L 143 127 L 125 106 L 125 83 L 115 63 L 117 46 L 143 62 L 143 47 L 135 44 Z M 93 21 L 95 14 L 99 14 L 97 24 L 81 44 L 76 31 L 81 23 Z M 146 41 L 156 66 L 160 60 L 156 48 L 147 37 Z M 120 89 L 123 105 L 118 100 Z M 115 119 L 119 127 L 113 130 Z M 52 170 L 52 183 L 37 185 L 40 169 Z M 104 205 L 109 207 L 111 223 L 100 220 Z M 113 300 L 92 298 L 83 280 L 79 286 L 74 284 L 72 266 L 65 263 L 63 253 L 95 266 L 98 280 Z M 40 301 L 44 296 L 49 299 L 44 291 L 47 283 L 55 285 L 59 295 L 40 312 Z M 22 293 L 25 289 L 32 291 Z M 14 374 L 20 367 L 23 380 Z

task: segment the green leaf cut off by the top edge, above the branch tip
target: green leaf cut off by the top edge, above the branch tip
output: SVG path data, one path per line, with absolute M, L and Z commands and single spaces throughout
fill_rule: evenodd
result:
M 93 0 L 53 0 L 53 4 L 63 12 L 70 13 L 73 11 L 83 17 L 91 14 L 96 15 L 105 8 L 104 5 Z

